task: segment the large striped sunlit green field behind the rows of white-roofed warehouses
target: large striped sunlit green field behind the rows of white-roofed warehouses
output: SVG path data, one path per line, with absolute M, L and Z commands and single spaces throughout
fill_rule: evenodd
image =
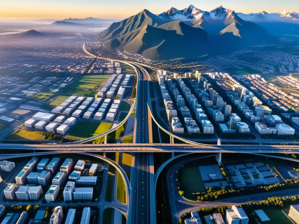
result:
M 87 75 L 75 82 L 64 91 L 66 94 L 91 96 L 97 94 L 101 85 L 104 85 L 111 75 Z

